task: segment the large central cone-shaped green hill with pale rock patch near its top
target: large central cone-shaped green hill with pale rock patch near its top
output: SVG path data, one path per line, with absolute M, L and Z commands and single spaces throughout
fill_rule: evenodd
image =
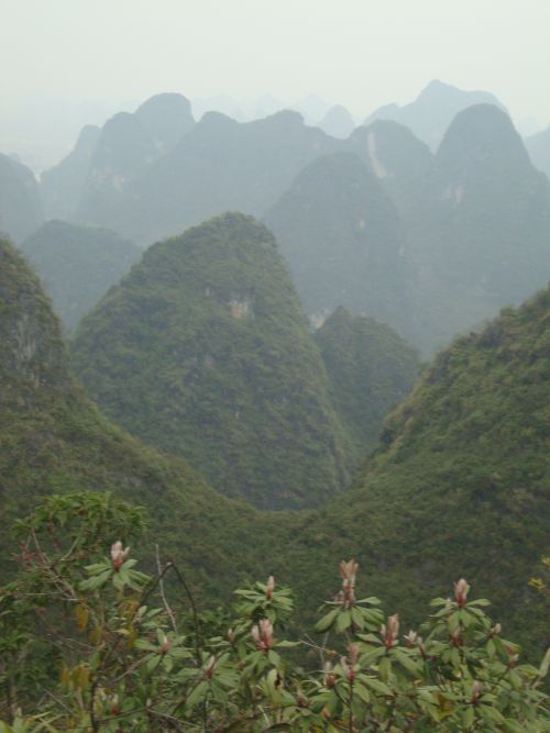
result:
M 74 366 L 108 415 L 266 508 L 345 481 L 348 437 L 273 235 L 226 214 L 152 246 L 77 331 Z

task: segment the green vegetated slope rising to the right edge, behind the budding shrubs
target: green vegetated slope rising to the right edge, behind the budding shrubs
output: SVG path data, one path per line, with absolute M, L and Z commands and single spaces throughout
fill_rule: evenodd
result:
M 528 579 L 548 554 L 549 384 L 550 289 L 441 352 L 354 487 L 296 532 L 288 552 L 308 596 L 328 581 L 329 553 L 364 563 L 369 592 L 395 608 L 407 598 L 413 618 L 464 576 L 498 599 L 506 630 L 548 645 Z

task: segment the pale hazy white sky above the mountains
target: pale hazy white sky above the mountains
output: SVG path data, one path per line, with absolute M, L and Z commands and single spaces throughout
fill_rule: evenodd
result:
M 2 96 L 316 93 L 360 118 L 432 79 L 550 123 L 550 0 L 0 0 Z

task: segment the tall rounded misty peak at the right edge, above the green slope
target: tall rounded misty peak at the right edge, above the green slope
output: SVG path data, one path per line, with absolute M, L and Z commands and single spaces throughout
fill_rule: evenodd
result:
M 548 282 L 550 185 L 505 112 L 477 104 L 457 115 L 407 231 L 422 337 L 433 344 Z

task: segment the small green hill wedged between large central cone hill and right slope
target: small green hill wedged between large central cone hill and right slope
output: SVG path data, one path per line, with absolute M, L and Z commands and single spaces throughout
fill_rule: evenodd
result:
M 356 459 L 378 443 L 384 419 L 410 391 L 418 356 L 393 329 L 340 307 L 315 333 L 332 404 L 355 443 Z

